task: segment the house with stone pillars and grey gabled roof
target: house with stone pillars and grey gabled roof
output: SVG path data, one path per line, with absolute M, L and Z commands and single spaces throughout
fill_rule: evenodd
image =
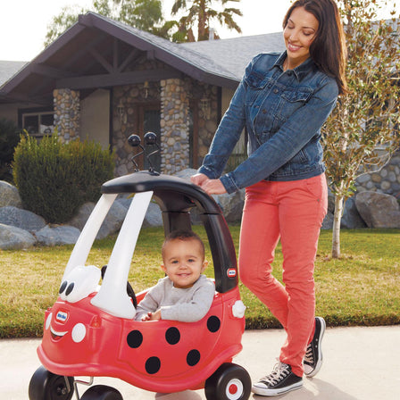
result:
M 30 63 L 0 63 L 0 117 L 111 146 L 118 176 L 133 168 L 129 135 L 149 130 L 162 147 L 156 170 L 197 168 L 246 64 L 283 49 L 281 33 L 176 44 L 87 12 Z

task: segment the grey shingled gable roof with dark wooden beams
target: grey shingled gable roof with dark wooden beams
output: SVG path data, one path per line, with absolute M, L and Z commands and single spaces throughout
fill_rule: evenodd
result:
M 0 62 L 0 67 L 4 64 L 0 72 L 0 103 L 26 100 L 49 104 L 56 87 L 77 88 L 85 96 L 85 91 L 96 87 L 177 78 L 182 74 L 235 88 L 255 54 L 283 48 L 281 33 L 176 44 L 87 12 L 30 63 Z M 136 61 L 143 57 L 161 61 L 162 67 L 137 71 Z

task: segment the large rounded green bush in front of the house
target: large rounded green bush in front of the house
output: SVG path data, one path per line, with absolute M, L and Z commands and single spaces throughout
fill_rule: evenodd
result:
M 13 178 L 23 206 L 47 222 L 70 221 L 86 202 L 96 202 L 100 187 L 113 176 L 113 154 L 95 143 L 62 144 L 57 135 L 40 143 L 28 134 L 15 148 Z

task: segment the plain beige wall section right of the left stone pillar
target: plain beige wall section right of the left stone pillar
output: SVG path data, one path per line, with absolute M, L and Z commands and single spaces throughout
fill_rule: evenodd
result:
M 84 140 L 95 140 L 106 149 L 110 146 L 110 91 L 97 89 L 80 101 L 80 132 Z

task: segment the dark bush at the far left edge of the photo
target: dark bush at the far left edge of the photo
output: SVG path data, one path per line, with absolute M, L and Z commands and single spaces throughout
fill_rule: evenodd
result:
M 20 132 L 14 122 L 0 118 L 0 180 L 12 182 L 12 156 L 20 141 Z

